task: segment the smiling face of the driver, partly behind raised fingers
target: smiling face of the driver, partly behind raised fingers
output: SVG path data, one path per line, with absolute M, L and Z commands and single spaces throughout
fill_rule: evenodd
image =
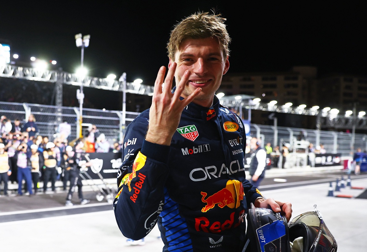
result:
M 194 103 L 210 107 L 215 91 L 221 85 L 222 75 L 229 68 L 228 57 L 224 59 L 218 40 L 215 38 L 183 40 L 175 53 L 175 59 L 170 59 L 168 67 L 172 62 L 177 63 L 176 85 L 181 81 L 186 70 L 191 72 L 181 96 L 188 97 L 196 88 L 201 88 Z

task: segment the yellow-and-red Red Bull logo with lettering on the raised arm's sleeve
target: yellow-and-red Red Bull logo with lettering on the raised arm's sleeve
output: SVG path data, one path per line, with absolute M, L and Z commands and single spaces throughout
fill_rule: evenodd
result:
M 137 177 L 137 171 L 140 170 L 144 165 L 146 161 L 146 156 L 141 154 L 141 152 L 138 153 L 137 157 L 134 160 L 134 164 L 132 165 L 132 173 L 126 174 L 121 183 L 128 186 L 129 192 L 131 192 L 131 181 L 132 179 Z M 136 202 L 138 198 L 138 194 L 140 193 L 140 189 L 143 186 L 144 180 L 146 176 L 142 173 L 138 174 L 139 181 L 135 182 L 135 186 L 132 188 L 134 189 L 134 194 L 130 197 L 134 203 Z

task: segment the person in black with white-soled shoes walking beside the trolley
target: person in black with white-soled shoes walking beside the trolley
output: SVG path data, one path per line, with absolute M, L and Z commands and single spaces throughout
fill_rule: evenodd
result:
M 73 151 L 73 148 L 71 146 L 66 147 L 66 164 L 65 166 L 68 168 L 70 167 L 70 188 L 68 196 L 66 196 L 65 206 L 69 207 L 74 205 L 71 202 L 71 199 L 73 197 L 73 193 L 75 192 L 76 187 L 78 187 L 78 196 L 79 201 L 81 205 L 87 204 L 90 202 L 90 200 L 84 199 L 82 187 L 83 183 L 81 182 L 80 177 L 80 168 L 82 166 L 91 166 L 90 162 L 86 162 L 82 159 L 81 153 L 83 152 L 84 144 L 81 140 L 77 140 L 75 142 L 75 150 Z

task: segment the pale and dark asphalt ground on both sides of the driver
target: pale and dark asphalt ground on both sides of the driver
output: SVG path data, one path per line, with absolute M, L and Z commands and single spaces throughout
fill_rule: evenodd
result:
M 334 172 L 329 173 L 330 170 Z M 267 198 L 290 201 L 292 218 L 313 211 L 316 204 L 338 243 L 339 252 L 366 251 L 367 200 L 357 197 L 365 191 L 361 188 L 367 188 L 367 175 L 351 177 L 351 186 L 359 189 L 345 186 L 335 191 L 336 182 L 333 181 L 343 174 L 340 167 L 328 171 L 271 169 L 259 189 Z M 306 179 L 299 181 L 295 177 Z M 315 184 L 314 180 L 319 182 Z M 328 196 L 330 182 L 333 196 Z M 0 197 L 0 251 L 162 251 L 163 243 L 157 227 L 145 238 L 145 245 L 128 245 L 117 227 L 112 204 L 106 199 L 98 201 L 98 192 L 91 186 L 83 186 L 83 189 L 84 197 L 91 202 L 80 205 L 75 192 L 72 207 L 64 206 L 66 192 L 62 191 Z M 336 197 L 338 195 L 348 198 Z

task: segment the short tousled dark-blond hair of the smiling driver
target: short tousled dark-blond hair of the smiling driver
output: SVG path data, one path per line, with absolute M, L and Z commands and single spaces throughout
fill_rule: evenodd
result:
M 231 41 L 224 24 L 225 18 L 221 14 L 209 14 L 209 12 L 197 12 L 183 19 L 171 31 L 167 44 L 168 57 L 174 60 L 175 53 L 186 38 L 217 38 L 223 51 L 224 58 L 229 56 L 229 43 Z

